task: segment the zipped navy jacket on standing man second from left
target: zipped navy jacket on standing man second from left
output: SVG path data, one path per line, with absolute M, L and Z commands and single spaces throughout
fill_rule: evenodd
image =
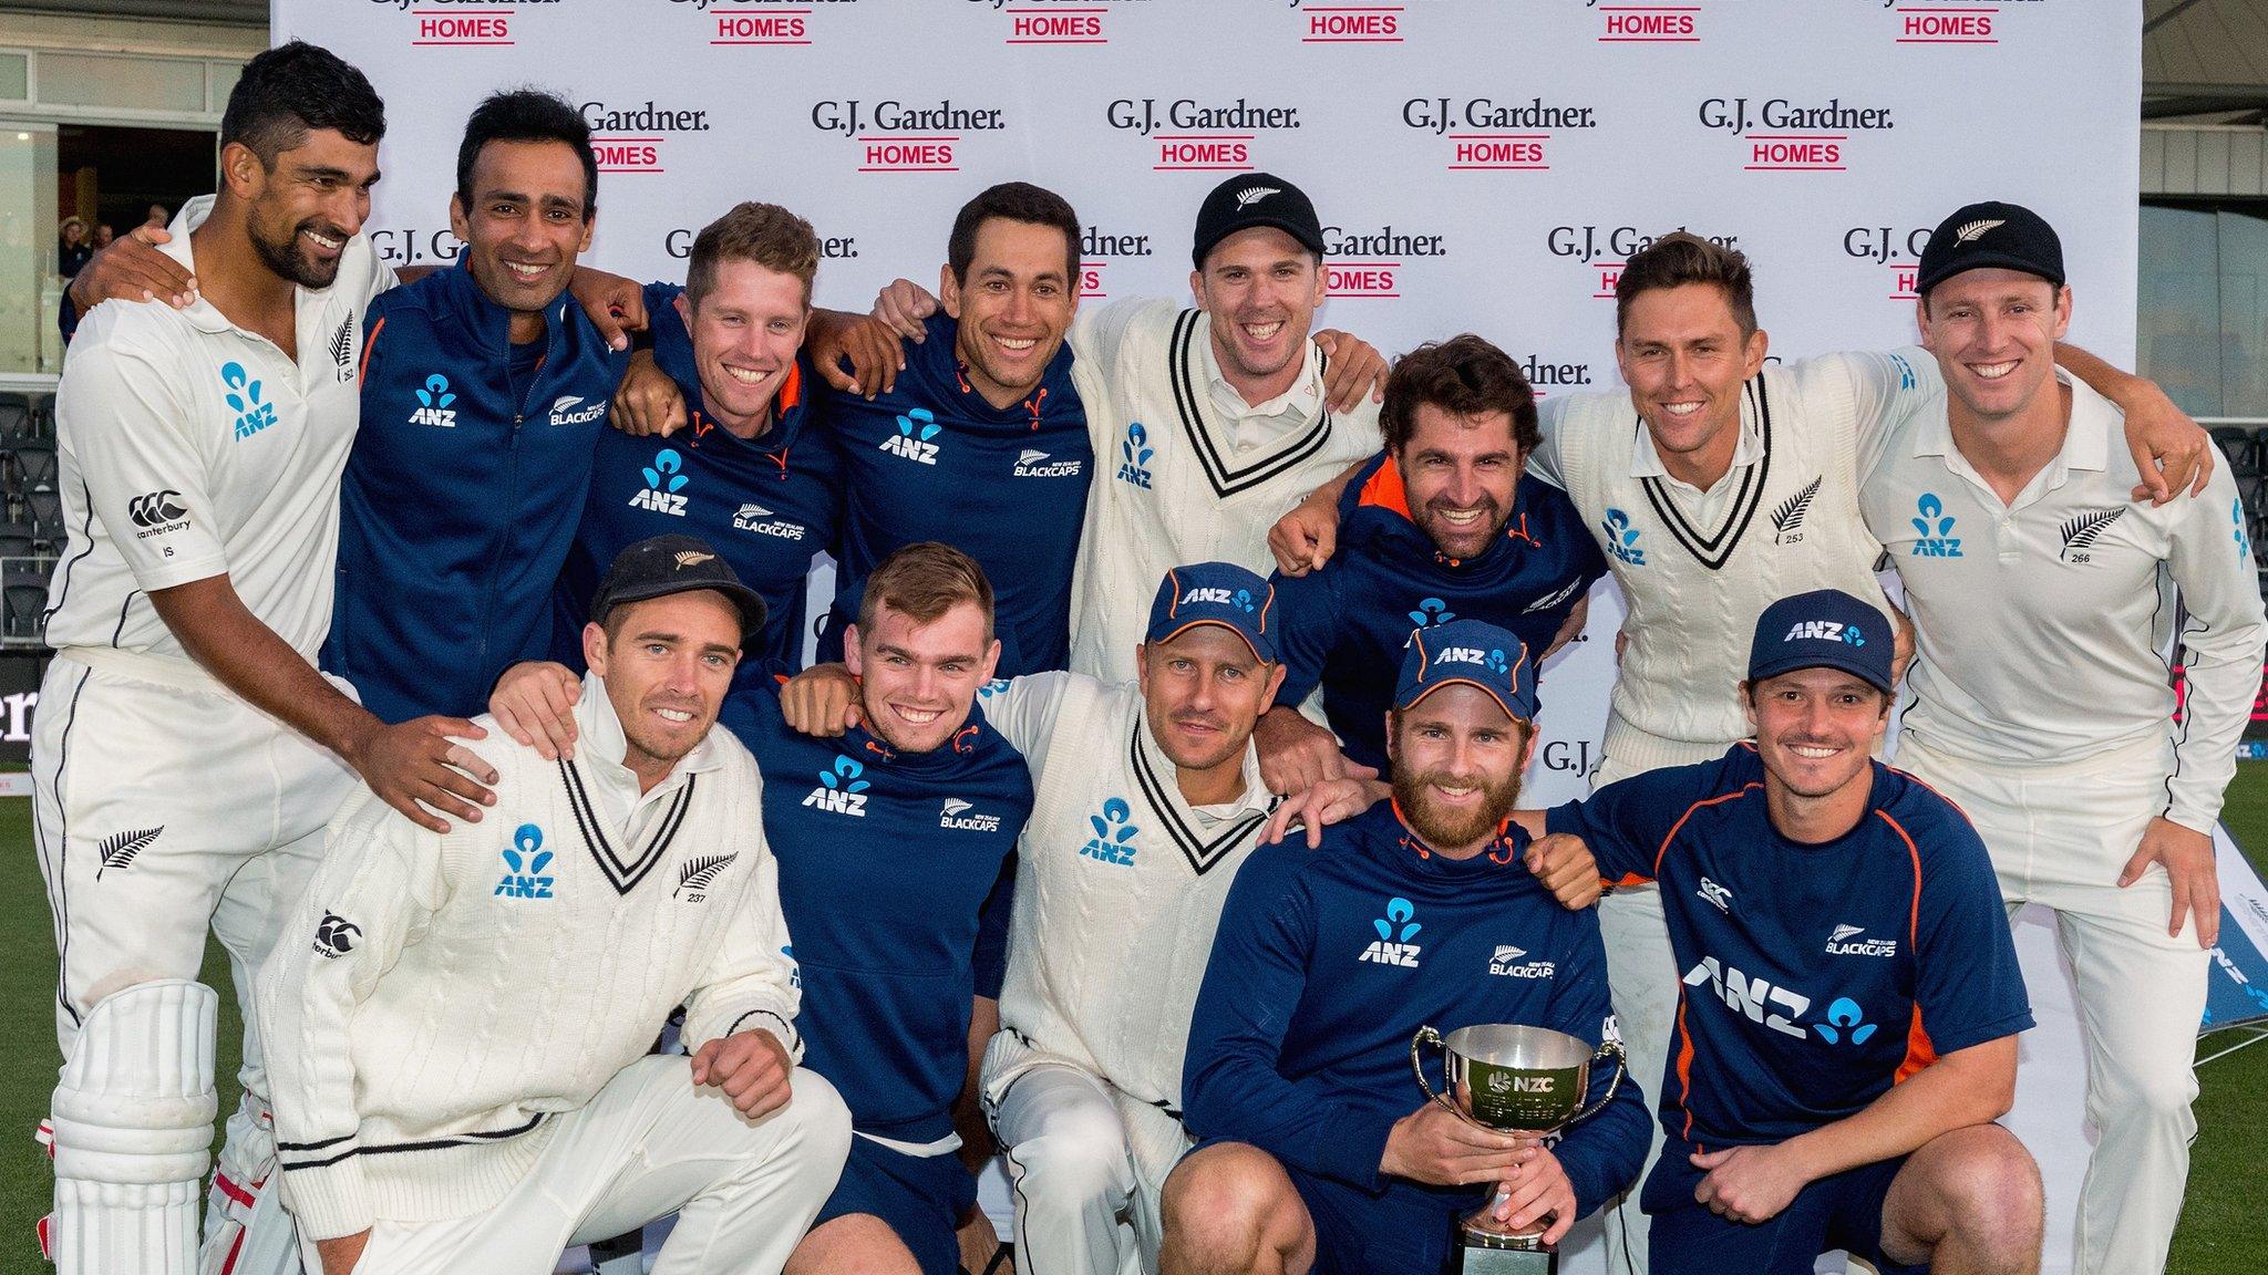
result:
M 472 717 L 551 647 L 551 588 L 628 356 L 562 293 L 515 399 L 510 311 L 463 261 L 379 295 L 363 331 L 322 667 L 386 721 Z

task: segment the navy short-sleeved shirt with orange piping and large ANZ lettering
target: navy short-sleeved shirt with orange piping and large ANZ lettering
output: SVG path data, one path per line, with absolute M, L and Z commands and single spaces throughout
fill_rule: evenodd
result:
M 1658 880 L 1681 978 L 1662 1130 L 1778 1143 L 1857 1114 L 2032 1007 L 1984 842 L 1944 796 L 1873 765 L 1867 814 L 1783 837 L 1755 744 L 1551 810 L 1610 880 Z

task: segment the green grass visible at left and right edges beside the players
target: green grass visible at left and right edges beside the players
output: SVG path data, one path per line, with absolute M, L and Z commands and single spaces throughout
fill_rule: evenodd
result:
M 2268 762 L 2239 765 L 2227 801 L 2229 830 L 2268 871 Z M 0 801 L 0 1273 L 36 1273 L 34 1223 L 48 1211 L 48 1157 L 32 1132 L 48 1114 L 54 1050 L 54 926 L 32 848 L 32 803 Z M 220 989 L 222 1116 L 234 1109 L 236 996 L 229 966 L 206 944 L 202 978 Z M 2252 1175 L 2268 1152 L 2268 1044 L 2200 1073 L 2198 1148 L 2189 1202 L 2173 1236 L 2168 1275 L 2252 1275 L 2268 1252 L 2268 1211 Z M 220 1130 L 213 1132 L 220 1148 Z

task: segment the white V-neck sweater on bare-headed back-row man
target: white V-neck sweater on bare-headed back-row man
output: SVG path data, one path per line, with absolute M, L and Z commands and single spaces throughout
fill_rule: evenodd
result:
M 1857 463 L 1935 372 L 1919 352 L 1767 365 L 1742 395 L 1744 445 L 1706 497 L 1667 476 L 1626 392 L 1545 402 L 1535 470 L 1583 510 L 1628 606 L 1608 758 L 1651 769 L 1749 737 L 1740 681 L 1774 601 L 1837 588 L 1887 606 Z

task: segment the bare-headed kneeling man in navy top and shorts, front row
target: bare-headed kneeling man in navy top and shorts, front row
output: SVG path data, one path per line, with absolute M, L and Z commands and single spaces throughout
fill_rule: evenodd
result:
M 789 347 L 792 349 L 792 347 Z M 848 631 L 857 721 L 844 740 L 782 717 L 787 665 L 746 662 L 719 724 L 769 778 L 764 837 L 796 935 L 805 1064 L 850 1105 L 850 1159 L 789 1273 L 953 1275 L 975 1175 L 955 1155 L 984 898 L 1032 810 L 1032 776 L 975 710 L 1000 658 L 991 583 L 959 549 L 907 544 L 866 576 Z M 522 665 L 497 721 L 538 751 L 549 721 Z M 508 712 L 510 710 L 510 712 Z

